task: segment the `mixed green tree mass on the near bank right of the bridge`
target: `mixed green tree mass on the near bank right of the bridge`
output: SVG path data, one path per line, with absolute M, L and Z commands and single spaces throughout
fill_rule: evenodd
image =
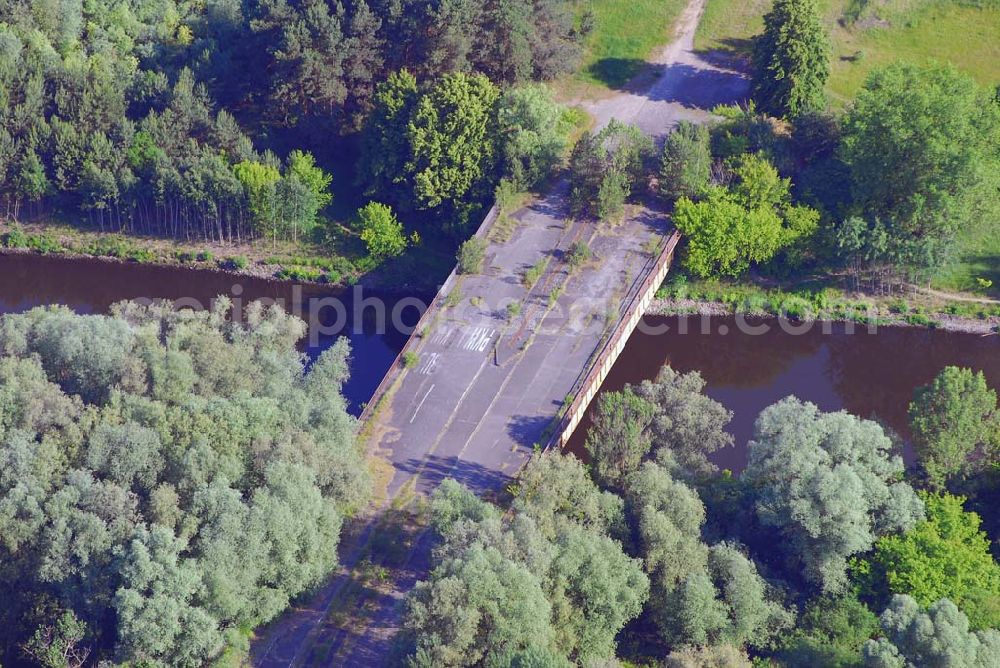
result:
M 732 413 L 703 389 L 697 372 L 665 367 L 603 394 L 589 465 L 536 454 L 509 512 L 442 484 L 435 567 L 408 596 L 400 656 L 412 666 L 1000 662 L 996 524 L 987 536 L 973 511 L 992 511 L 1000 489 L 1000 414 L 982 374 L 949 367 L 915 393 L 910 471 L 880 424 L 794 397 L 757 418 L 741 475 L 719 471 L 710 457 L 732 445 Z

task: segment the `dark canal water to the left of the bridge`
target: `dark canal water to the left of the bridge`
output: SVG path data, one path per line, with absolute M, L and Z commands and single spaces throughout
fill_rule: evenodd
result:
M 401 323 L 412 327 L 420 315 L 417 304 L 421 302 L 410 298 L 404 304 L 398 298 L 369 291 L 293 285 L 204 269 L 34 254 L 0 256 L 0 313 L 18 313 L 45 304 L 63 304 L 79 313 L 105 313 L 125 299 L 168 299 L 178 305 L 208 307 L 218 295 L 241 300 L 243 305 L 275 300 L 313 323 L 303 342 L 304 352 L 311 358 L 339 336 L 347 336 L 352 359 L 344 395 L 354 414 L 361 412 L 406 343 L 405 330 L 392 326 L 393 310 Z M 340 306 L 335 308 L 334 304 Z

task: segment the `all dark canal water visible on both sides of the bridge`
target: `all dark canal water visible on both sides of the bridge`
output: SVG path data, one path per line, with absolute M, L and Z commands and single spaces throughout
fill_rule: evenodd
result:
M 344 393 L 355 414 L 406 343 L 407 332 L 393 326 L 391 312 L 397 310 L 399 321 L 412 327 L 419 316 L 415 303 L 425 301 L 182 267 L 0 256 L 0 312 L 64 304 L 81 313 L 103 313 L 117 301 L 141 298 L 208 305 L 217 295 L 241 299 L 244 305 L 257 299 L 278 300 L 293 309 L 322 330 L 311 332 L 306 342 L 304 351 L 311 357 L 339 336 L 347 336 L 352 360 Z M 331 299 L 341 304 L 342 315 L 329 307 Z M 408 307 L 398 309 L 404 300 Z M 981 370 L 992 387 L 1000 388 L 1000 337 L 995 335 L 890 327 L 870 333 L 860 326 L 850 333 L 845 324 L 818 323 L 796 332 L 794 326 L 782 326 L 777 320 L 756 323 L 766 331 L 749 333 L 732 317 L 690 317 L 684 328 L 681 322 L 677 317 L 646 318 L 602 390 L 652 379 L 665 364 L 683 372 L 701 371 L 708 395 L 734 413 L 729 429 L 736 445 L 716 453 L 715 461 L 737 472 L 746 465 L 746 443 L 757 414 L 788 395 L 823 410 L 846 409 L 879 420 L 905 440 L 906 408 L 914 388 L 928 383 L 943 367 Z M 571 439 L 571 451 L 584 453 L 587 426 L 585 420 Z M 912 460 L 911 453 L 904 454 Z

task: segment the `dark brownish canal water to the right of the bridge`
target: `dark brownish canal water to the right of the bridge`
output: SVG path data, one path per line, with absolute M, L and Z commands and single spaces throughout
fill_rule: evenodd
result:
M 646 318 L 629 339 L 602 391 L 653 379 L 665 364 L 682 372 L 701 371 L 706 393 L 733 412 L 729 431 L 735 445 L 714 461 L 734 472 L 746 466 L 746 443 L 757 415 L 795 395 L 826 411 L 845 409 L 893 429 L 905 441 L 907 406 L 916 387 L 948 365 L 983 371 L 1000 389 L 1000 336 L 928 329 L 880 327 L 870 333 L 843 323 L 799 327 L 763 320 L 763 333 L 747 333 L 733 317 L 687 319 L 682 333 L 676 317 Z M 665 331 L 664 331 L 665 330 Z M 584 454 L 584 420 L 569 449 Z M 904 458 L 912 452 L 904 447 Z

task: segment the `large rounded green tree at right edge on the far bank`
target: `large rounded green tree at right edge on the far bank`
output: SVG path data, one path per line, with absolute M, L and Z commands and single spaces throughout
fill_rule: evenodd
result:
M 958 230 L 997 204 L 1000 107 L 950 65 L 897 63 L 869 75 L 844 119 L 857 204 L 886 226 L 904 267 L 938 266 Z

